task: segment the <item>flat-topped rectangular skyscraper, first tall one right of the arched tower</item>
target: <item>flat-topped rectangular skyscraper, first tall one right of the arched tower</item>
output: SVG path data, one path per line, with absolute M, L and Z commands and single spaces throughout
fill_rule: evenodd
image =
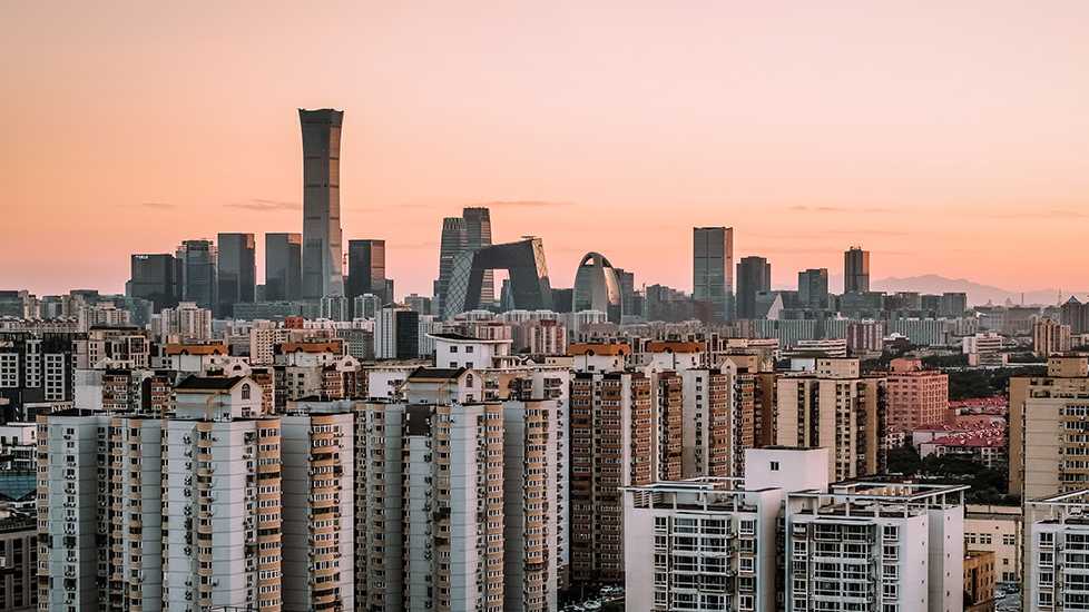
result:
M 691 230 L 693 297 L 712 305 L 712 320 L 733 317 L 734 228 L 694 227 Z

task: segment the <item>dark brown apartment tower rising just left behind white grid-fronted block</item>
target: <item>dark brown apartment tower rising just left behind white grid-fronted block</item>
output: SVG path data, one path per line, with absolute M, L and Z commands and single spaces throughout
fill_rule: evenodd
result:
M 655 478 L 650 377 L 576 372 L 571 378 L 571 580 L 624 580 L 624 486 Z

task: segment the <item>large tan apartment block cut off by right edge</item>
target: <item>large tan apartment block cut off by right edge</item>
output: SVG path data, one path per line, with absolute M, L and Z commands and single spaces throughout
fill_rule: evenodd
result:
M 1010 378 L 1010 494 L 1089 488 L 1089 357 L 1053 356 L 1048 375 Z

